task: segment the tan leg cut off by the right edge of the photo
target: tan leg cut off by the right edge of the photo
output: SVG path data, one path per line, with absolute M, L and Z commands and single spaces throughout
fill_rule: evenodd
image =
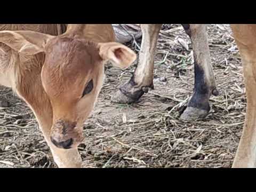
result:
M 256 167 L 256 25 L 231 25 L 242 57 L 246 119 L 233 167 Z

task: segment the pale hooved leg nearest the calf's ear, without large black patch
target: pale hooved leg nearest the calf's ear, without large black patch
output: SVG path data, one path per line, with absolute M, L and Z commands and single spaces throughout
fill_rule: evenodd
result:
M 162 24 L 141 25 L 142 43 L 138 66 L 129 82 L 125 83 L 111 98 L 117 103 L 138 101 L 148 89 L 154 89 L 154 55 L 158 33 Z

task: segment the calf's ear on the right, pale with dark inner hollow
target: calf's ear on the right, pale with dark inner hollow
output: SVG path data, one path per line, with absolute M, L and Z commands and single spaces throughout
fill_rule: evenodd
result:
M 136 60 L 137 55 L 129 47 L 121 43 L 99 43 L 100 57 L 103 60 L 109 60 L 114 66 L 127 68 Z

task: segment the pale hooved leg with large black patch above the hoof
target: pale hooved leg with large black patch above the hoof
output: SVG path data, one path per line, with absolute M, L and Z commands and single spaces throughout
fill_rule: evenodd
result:
M 210 111 L 211 94 L 218 95 L 218 91 L 211 66 L 206 26 L 201 24 L 183 24 L 182 26 L 191 39 L 195 60 L 194 93 L 180 117 L 189 120 L 206 116 Z

